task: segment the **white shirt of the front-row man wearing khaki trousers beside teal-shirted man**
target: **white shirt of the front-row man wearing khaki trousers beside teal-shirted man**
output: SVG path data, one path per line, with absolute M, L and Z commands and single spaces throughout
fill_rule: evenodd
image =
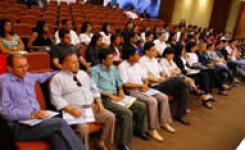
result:
M 143 81 L 146 78 L 146 72 L 139 63 L 131 65 L 125 60 L 119 65 L 118 71 L 124 84 L 127 82 L 143 84 Z

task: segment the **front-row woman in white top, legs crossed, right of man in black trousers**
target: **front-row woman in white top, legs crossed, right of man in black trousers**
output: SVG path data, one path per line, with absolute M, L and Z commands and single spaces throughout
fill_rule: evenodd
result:
M 182 79 L 186 85 L 194 92 L 200 95 L 202 104 L 207 108 L 212 108 L 211 101 L 213 101 L 213 96 L 208 92 L 200 91 L 193 79 L 182 74 L 181 70 L 178 68 L 174 62 L 174 51 L 172 48 L 166 48 L 163 53 L 164 58 L 161 59 L 160 65 L 164 70 L 167 77 L 183 77 Z

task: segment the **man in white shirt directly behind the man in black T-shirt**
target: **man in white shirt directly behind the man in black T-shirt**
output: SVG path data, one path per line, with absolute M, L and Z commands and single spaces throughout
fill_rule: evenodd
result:
M 76 32 L 72 30 L 72 21 L 71 20 L 68 20 L 68 19 L 61 20 L 61 28 L 65 28 L 65 29 L 70 30 L 71 44 L 72 45 L 77 46 L 80 44 L 80 40 L 79 40 Z M 59 43 L 60 43 L 59 30 L 57 30 L 55 32 L 55 44 L 59 44 Z

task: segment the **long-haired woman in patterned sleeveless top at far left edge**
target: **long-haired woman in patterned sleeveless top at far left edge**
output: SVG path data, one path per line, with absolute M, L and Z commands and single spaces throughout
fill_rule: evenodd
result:
M 0 24 L 0 53 L 24 50 L 21 38 L 14 33 L 13 23 L 9 19 L 2 19 Z

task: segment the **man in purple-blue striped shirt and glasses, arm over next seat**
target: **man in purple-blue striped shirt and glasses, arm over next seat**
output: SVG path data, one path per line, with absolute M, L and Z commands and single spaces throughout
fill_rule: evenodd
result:
M 43 83 L 54 73 L 27 73 L 27 58 L 11 54 L 10 72 L 0 77 L 0 116 L 8 121 L 17 141 L 47 139 L 53 150 L 83 150 L 83 144 L 69 125 L 60 118 L 51 118 L 33 127 L 18 123 L 25 119 L 44 119 L 48 114 L 40 110 L 34 85 Z

